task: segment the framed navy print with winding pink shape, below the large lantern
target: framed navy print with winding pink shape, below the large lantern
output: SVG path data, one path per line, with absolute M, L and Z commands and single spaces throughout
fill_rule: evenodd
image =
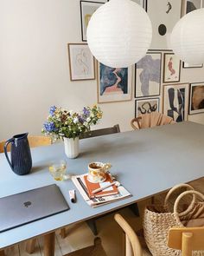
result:
M 131 101 L 132 67 L 115 69 L 99 62 L 98 102 Z

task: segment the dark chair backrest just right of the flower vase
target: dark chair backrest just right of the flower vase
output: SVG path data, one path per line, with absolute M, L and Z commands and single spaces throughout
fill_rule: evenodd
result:
M 98 129 L 98 130 L 88 131 L 88 132 L 84 133 L 83 135 L 80 135 L 80 139 L 97 137 L 97 136 L 101 136 L 101 135 L 117 134 L 119 132 L 120 132 L 119 125 L 116 124 L 110 128 L 102 128 L 102 129 Z

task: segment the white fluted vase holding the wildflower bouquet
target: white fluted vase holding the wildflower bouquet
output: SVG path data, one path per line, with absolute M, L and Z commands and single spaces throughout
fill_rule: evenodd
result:
M 80 140 L 76 138 L 64 137 L 65 154 L 68 158 L 76 158 L 80 154 Z

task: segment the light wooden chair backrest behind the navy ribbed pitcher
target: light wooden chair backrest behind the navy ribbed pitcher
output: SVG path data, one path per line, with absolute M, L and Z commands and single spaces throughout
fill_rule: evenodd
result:
M 35 148 L 39 146 L 46 146 L 51 144 L 51 138 L 41 135 L 29 135 L 29 147 Z M 6 141 L 0 141 L 0 153 L 4 152 L 4 144 Z M 8 151 L 10 151 L 10 145 L 8 145 Z

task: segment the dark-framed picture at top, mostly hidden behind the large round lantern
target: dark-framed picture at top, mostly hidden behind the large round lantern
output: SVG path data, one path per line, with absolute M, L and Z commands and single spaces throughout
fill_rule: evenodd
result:
M 86 42 L 86 29 L 92 14 L 105 2 L 80 1 L 81 40 Z

